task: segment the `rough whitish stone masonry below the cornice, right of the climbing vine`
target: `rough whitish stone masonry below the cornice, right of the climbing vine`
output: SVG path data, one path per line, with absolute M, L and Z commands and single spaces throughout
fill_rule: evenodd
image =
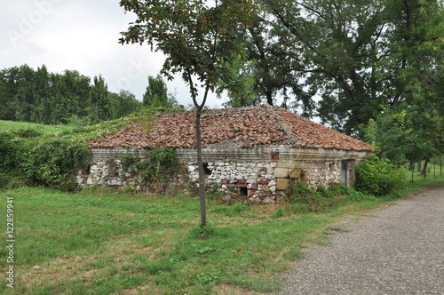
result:
M 190 179 L 197 184 L 197 163 L 186 163 Z M 291 183 L 304 181 L 310 187 L 329 186 L 340 181 L 340 162 L 271 161 L 268 163 L 204 163 L 207 184 L 226 193 L 245 195 L 251 202 L 275 203 Z

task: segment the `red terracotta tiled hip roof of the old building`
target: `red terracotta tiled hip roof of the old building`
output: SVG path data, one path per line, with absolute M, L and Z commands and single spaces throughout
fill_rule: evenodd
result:
M 155 116 L 147 134 L 135 123 L 91 142 L 91 148 L 195 148 L 194 112 Z M 202 113 L 202 147 L 255 148 L 286 144 L 301 148 L 369 151 L 367 144 L 271 106 L 211 109 Z

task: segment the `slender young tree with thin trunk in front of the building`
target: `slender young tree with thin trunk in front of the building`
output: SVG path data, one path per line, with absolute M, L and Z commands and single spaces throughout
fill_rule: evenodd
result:
M 121 0 L 137 19 L 122 32 L 121 44 L 148 44 L 166 55 L 162 73 L 179 74 L 195 107 L 201 226 L 206 225 L 201 114 L 208 94 L 230 71 L 226 63 L 242 59 L 244 32 L 254 14 L 252 0 Z M 199 90 L 203 94 L 199 95 Z M 199 101 L 200 99 L 200 101 Z

